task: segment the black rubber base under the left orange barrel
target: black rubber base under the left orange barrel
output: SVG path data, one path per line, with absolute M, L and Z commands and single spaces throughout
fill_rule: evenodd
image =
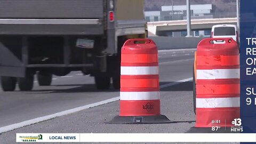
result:
M 164 124 L 174 123 L 164 115 L 158 116 L 115 116 L 108 124 Z

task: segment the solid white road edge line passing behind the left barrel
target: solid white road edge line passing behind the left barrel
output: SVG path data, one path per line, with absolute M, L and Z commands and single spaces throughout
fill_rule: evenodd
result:
M 180 84 L 180 83 L 183 83 L 183 82 L 188 82 L 188 81 L 191 81 L 191 79 L 193 79 L 193 78 L 192 77 L 191 78 L 186 78 L 186 79 L 182 79 L 182 80 L 177 81 L 177 82 L 164 84 L 164 85 L 161 85 L 160 88 L 163 89 L 164 87 L 169 87 L 169 86 L 177 85 L 177 84 Z M 120 97 L 115 97 L 115 98 L 103 100 L 103 101 L 100 101 L 100 102 L 92 103 L 90 105 L 85 105 L 85 106 L 82 106 L 82 107 L 77 107 L 77 108 L 61 111 L 59 113 L 30 119 L 28 121 L 23 121 L 23 122 L 20 122 L 20 123 L 6 125 L 6 126 L 3 126 L 3 127 L 0 127 L 0 133 L 12 131 L 12 130 L 15 130 L 15 129 L 19 129 L 20 127 L 24 127 L 24 126 L 27 126 L 27 125 L 47 121 L 49 119 L 53 119 L 53 118 L 60 117 L 60 116 L 63 116 L 63 115 L 76 113 L 77 111 L 85 110 L 85 109 L 92 108 L 92 107 L 97 107 L 97 106 L 104 105 L 106 103 L 110 103 L 110 102 L 114 102 L 114 101 L 118 101 L 118 100 L 120 100 Z

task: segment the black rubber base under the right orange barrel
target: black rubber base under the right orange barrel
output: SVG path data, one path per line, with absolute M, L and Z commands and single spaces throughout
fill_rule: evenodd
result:
M 213 131 L 212 127 L 191 127 L 186 133 L 239 133 L 231 131 L 231 127 L 220 127 L 217 131 Z

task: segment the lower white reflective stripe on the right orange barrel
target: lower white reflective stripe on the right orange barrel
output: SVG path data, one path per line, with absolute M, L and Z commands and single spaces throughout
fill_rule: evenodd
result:
M 196 98 L 196 108 L 240 107 L 240 98 Z

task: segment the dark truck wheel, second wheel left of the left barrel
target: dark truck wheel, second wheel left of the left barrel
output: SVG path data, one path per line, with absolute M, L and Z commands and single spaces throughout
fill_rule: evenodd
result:
M 108 90 L 110 87 L 110 77 L 97 75 L 94 76 L 94 81 L 98 90 Z

